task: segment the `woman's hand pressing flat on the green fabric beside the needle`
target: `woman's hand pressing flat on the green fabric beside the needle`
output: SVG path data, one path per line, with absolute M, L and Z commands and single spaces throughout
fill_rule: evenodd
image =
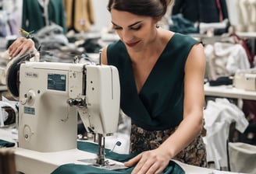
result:
M 169 164 L 169 160 L 168 153 L 157 148 L 140 153 L 128 162 L 125 162 L 124 165 L 131 167 L 137 163 L 132 174 L 155 174 L 161 173 Z

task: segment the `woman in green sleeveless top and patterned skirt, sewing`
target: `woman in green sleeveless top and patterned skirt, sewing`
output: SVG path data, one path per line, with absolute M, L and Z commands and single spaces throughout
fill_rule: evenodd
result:
M 108 2 L 120 40 L 102 50 L 101 61 L 119 70 L 120 106 L 132 120 L 130 152 L 141 152 L 125 165 L 136 165 L 136 174 L 160 173 L 170 159 L 206 166 L 201 138 L 204 48 L 189 36 L 158 26 L 171 3 Z M 30 41 L 15 42 L 9 53 L 30 50 L 19 46 L 25 42 Z

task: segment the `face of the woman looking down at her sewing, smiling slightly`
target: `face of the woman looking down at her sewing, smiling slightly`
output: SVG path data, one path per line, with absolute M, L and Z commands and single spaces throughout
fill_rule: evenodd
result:
M 144 50 L 144 47 L 154 42 L 157 19 L 116 9 L 111 10 L 111 16 L 113 29 L 126 45 L 127 50 Z

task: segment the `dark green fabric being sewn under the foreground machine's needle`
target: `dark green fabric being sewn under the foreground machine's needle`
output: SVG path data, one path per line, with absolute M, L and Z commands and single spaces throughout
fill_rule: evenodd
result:
M 98 145 L 93 144 L 90 142 L 77 142 L 77 148 L 83 151 L 88 151 L 91 153 L 97 153 L 98 152 Z M 115 152 L 110 152 L 108 149 L 105 149 L 105 158 L 110 158 L 119 162 L 125 162 L 128 161 L 130 158 L 132 158 L 133 155 L 122 155 L 117 154 Z M 118 159 L 118 160 L 117 160 Z M 107 169 L 99 169 L 94 166 L 90 165 L 75 165 L 75 164 L 66 164 L 61 165 L 57 169 L 55 169 L 52 174 L 96 174 L 96 173 L 109 173 L 109 174 L 129 174 L 133 167 L 130 167 L 128 169 L 119 169 L 115 171 L 107 170 Z M 169 165 L 165 169 L 162 174 L 185 174 L 183 169 L 180 167 L 180 165 L 177 165 L 176 162 L 170 161 Z

